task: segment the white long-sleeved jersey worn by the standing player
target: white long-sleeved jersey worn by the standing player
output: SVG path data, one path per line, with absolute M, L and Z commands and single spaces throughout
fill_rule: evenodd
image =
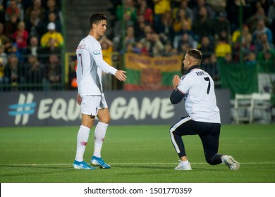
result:
M 76 49 L 76 56 L 78 94 L 102 95 L 102 70 L 112 75 L 115 75 L 117 70 L 103 60 L 102 47 L 97 39 L 91 35 L 82 39 Z

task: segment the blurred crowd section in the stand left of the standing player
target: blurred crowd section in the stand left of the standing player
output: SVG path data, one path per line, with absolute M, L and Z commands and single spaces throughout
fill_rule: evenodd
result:
M 61 24 L 59 0 L 0 1 L 0 91 L 59 89 Z

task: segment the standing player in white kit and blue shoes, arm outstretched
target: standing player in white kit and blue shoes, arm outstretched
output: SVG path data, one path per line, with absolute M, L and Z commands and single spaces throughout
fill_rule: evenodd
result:
M 109 109 L 102 89 L 102 71 L 114 75 L 121 82 L 126 81 L 126 71 L 116 70 L 102 58 L 102 47 L 98 40 L 106 31 L 106 15 L 94 13 L 90 17 L 90 34 L 81 40 L 76 49 L 78 68 L 76 70 L 78 81 L 78 96 L 76 101 L 81 105 L 81 126 L 78 130 L 77 149 L 73 167 L 75 169 L 92 170 L 95 166 L 110 168 L 101 158 L 102 144 L 106 129 L 110 122 Z M 94 123 L 94 117 L 99 122 L 94 131 L 94 153 L 91 167 L 83 160 L 83 155 Z

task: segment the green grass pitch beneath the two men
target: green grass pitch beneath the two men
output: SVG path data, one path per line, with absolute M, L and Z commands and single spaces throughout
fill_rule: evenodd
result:
M 274 183 L 275 126 L 223 125 L 219 153 L 240 170 L 205 162 L 199 136 L 183 136 L 193 170 L 176 171 L 170 125 L 109 126 L 102 158 L 111 169 L 74 170 L 78 127 L 0 128 L 1 183 Z M 94 127 L 85 151 L 89 163 Z

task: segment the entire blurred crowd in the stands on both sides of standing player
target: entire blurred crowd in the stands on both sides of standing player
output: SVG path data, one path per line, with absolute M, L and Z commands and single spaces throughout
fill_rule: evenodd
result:
M 262 63 L 275 72 L 275 0 L 110 2 L 109 34 L 100 40 L 104 59 L 110 64 L 113 53 L 159 57 L 195 48 L 203 53 L 202 68 L 216 81 L 219 59 L 224 63 Z M 61 4 L 66 1 L 0 3 L 0 91 L 13 89 L 11 84 L 16 84 L 15 89 L 24 84 L 22 90 L 42 89 L 33 84 L 63 89 L 59 86 L 65 39 Z M 71 83 L 75 65 L 70 68 Z

